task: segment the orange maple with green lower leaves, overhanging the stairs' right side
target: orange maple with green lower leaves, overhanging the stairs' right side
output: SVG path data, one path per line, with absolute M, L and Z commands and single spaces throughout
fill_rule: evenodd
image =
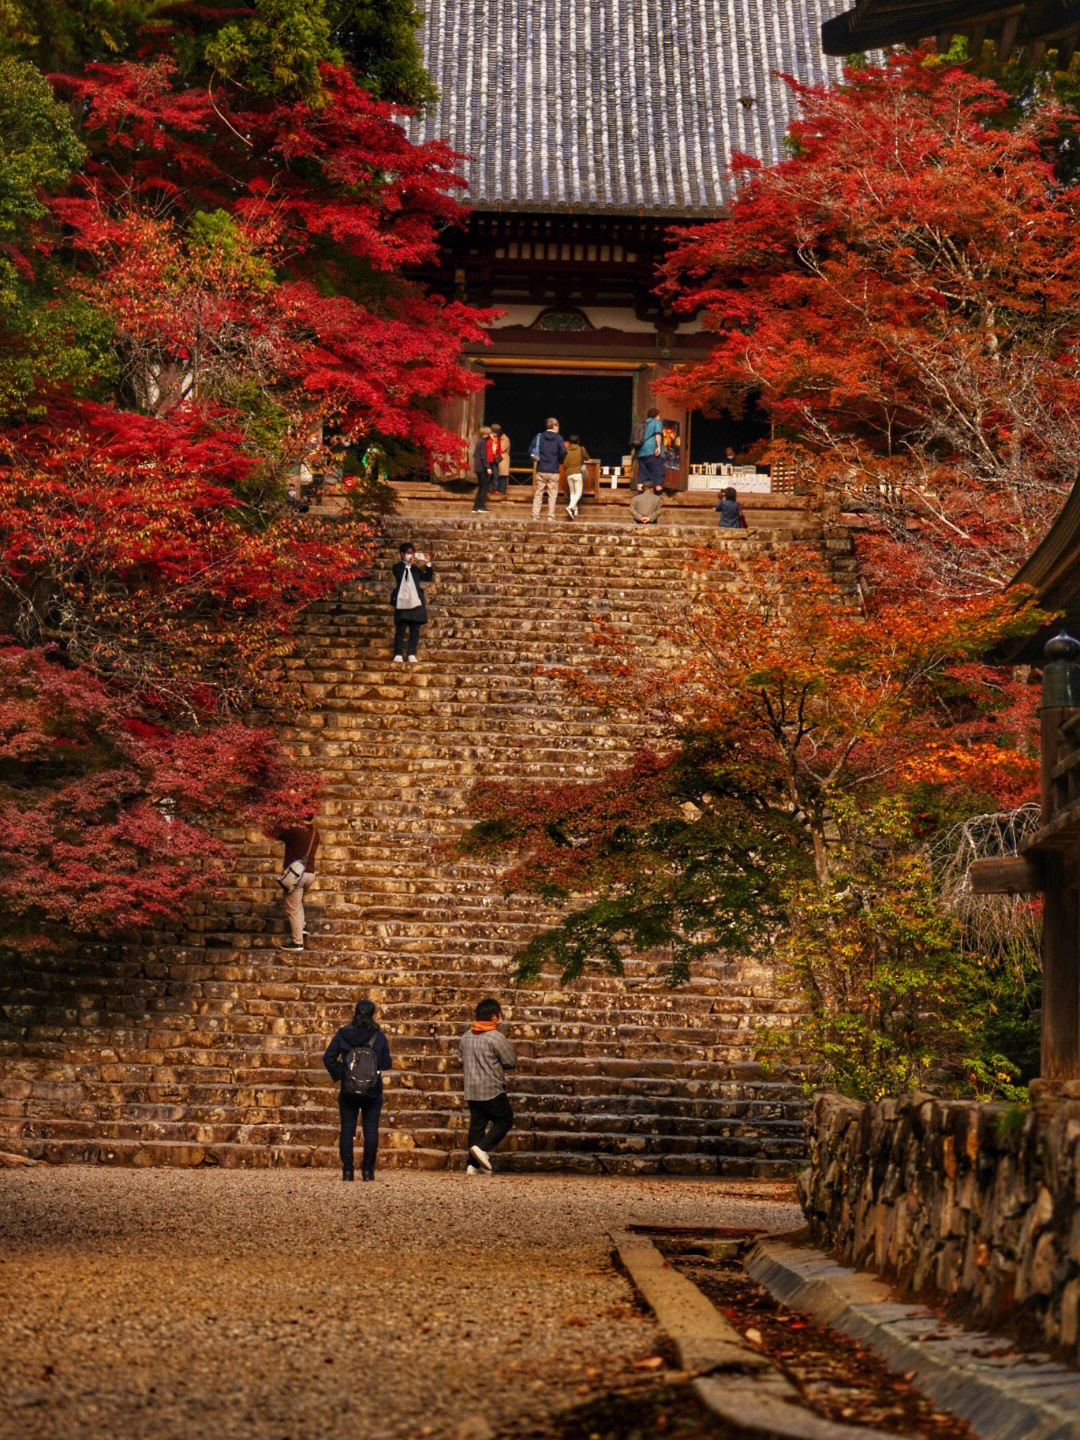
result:
M 770 1053 L 858 1094 L 943 1063 L 949 1083 L 1007 1093 L 1021 1063 L 999 1053 L 995 1017 L 1025 998 L 965 952 L 922 841 L 1037 783 L 1037 688 L 982 658 L 1032 624 L 1030 599 L 864 612 L 795 549 L 703 553 L 696 572 L 662 662 L 602 629 L 588 668 L 553 671 L 634 716 L 651 747 L 588 786 L 477 792 L 467 848 L 513 855 L 504 886 L 572 906 L 518 976 L 618 972 L 649 952 L 680 981 L 717 950 L 768 952 L 804 1009 L 762 1037 Z

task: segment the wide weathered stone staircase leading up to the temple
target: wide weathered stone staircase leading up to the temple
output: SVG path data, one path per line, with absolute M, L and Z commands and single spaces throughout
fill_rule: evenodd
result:
M 570 701 L 539 665 L 588 662 L 605 616 L 642 654 L 694 546 L 809 546 L 812 527 L 631 528 L 625 520 L 408 516 L 376 573 L 315 606 L 291 665 L 310 710 L 287 739 L 325 779 L 308 949 L 282 952 L 276 851 L 235 835 L 229 894 L 183 935 L 0 976 L 0 1149 L 111 1164 L 336 1164 L 321 1050 L 359 995 L 393 1054 L 380 1164 L 464 1164 L 456 1041 L 500 995 L 520 1066 L 516 1169 L 775 1175 L 804 1156 L 804 1099 L 755 1063 L 791 1017 L 768 968 L 717 956 L 668 988 L 622 978 L 516 991 L 514 952 L 556 912 L 504 897 L 492 867 L 446 858 L 475 780 L 590 779 L 629 759 L 639 721 Z M 389 566 L 435 553 L 419 665 L 390 665 Z

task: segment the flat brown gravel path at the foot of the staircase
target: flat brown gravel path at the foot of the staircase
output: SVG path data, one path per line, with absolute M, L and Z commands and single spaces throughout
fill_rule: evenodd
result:
M 508 1434 L 655 1348 L 611 1263 L 629 1220 L 799 1212 L 652 1178 L 0 1171 L 0 1437 Z

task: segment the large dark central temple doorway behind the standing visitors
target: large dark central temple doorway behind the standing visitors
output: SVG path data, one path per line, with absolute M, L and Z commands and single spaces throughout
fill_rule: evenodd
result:
M 626 454 L 634 422 L 634 377 L 629 374 L 531 374 L 498 372 L 484 393 L 484 423 L 498 423 L 510 436 L 510 464 L 531 465 L 528 444 L 549 415 L 563 438 L 580 435 L 593 459 L 618 465 Z

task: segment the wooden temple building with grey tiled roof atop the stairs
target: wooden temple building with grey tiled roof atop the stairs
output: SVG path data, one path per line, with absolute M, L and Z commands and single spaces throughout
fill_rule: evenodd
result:
M 835 6 L 835 0 L 834 0 Z M 514 467 L 547 415 L 616 465 L 636 419 L 668 422 L 668 484 L 768 426 L 654 397 L 707 337 L 655 294 L 674 228 L 719 216 L 736 151 L 772 161 L 795 111 L 791 75 L 831 82 L 822 0 L 428 0 L 423 59 L 439 101 L 409 124 L 467 157 L 471 219 L 431 276 L 504 311 L 472 363 L 488 386 L 444 416 L 501 423 Z

